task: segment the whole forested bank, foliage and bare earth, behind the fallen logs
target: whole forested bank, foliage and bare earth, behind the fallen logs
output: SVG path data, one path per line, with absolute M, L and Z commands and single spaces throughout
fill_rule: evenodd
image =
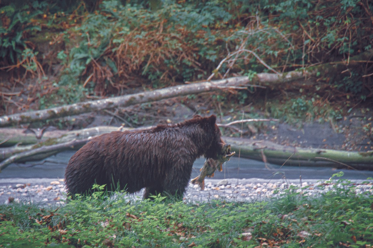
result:
M 324 148 L 373 150 L 370 1 L 8 0 L 0 3 L 0 17 L 0 116 L 247 76 L 263 88 L 231 87 L 100 114 L 109 116 L 104 124 L 129 127 L 211 113 L 222 123 L 277 118 L 287 129 L 326 123 L 346 139 Z M 290 72 L 304 77 L 257 80 L 261 73 Z M 175 102 L 189 111 L 175 111 Z M 21 127 L 77 129 L 95 117 Z M 268 138 L 278 128 L 257 122 L 224 134 Z

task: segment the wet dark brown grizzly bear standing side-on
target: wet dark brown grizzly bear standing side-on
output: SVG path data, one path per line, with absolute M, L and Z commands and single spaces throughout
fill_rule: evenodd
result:
M 182 199 L 192 165 L 200 156 L 217 159 L 225 143 L 216 116 L 194 116 L 178 124 L 141 131 L 114 131 L 93 138 L 69 160 L 65 172 L 68 194 L 92 193 L 106 184 L 134 193 L 174 195 Z

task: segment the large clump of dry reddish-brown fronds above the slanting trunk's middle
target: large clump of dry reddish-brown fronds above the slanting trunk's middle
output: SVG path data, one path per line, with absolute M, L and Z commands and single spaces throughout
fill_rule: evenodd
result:
M 175 82 L 180 73 L 174 66 L 177 64 L 184 63 L 199 69 L 201 64 L 196 60 L 197 49 L 183 39 L 191 32 L 183 27 L 170 31 L 173 27 L 165 26 L 165 22 L 162 20 L 153 30 L 149 25 L 141 25 L 123 37 L 121 44 L 110 44 L 103 56 L 115 62 L 117 73 L 113 74 L 108 66 L 93 60 L 91 70 L 88 70 L 92 76 L 86 83 L 95 82 L 95 92 L 101 95 L 113 89 L 120 91 L 140 86 L 144 83 L 144 77 L 151 74 L 159 75 L 160 83 Z M 115 83 L 112 81 L 113 76 L 117 77 Z

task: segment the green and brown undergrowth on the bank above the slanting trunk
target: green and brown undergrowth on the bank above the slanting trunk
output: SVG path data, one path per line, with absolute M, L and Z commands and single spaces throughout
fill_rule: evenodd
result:
M 49 58 L 64 66 L 57 85 L 105 95 L 133 84 L 169 85 L 227 70 L 269 71 L 264 63 L 289 71 L 372 49 L 369 1 L 163 0 L 157 8 L 151 3 L 155 1 L 4 1 L 1 65 L 27 64 L 27 49 L 43 60 L 35 40 L 62 43 L 65 49 Z M 227 55 L 234 61 L 214 70 Z M 359 73 L 367 70 L 361 67 Z M 362 78 L 360 90 L 344 84 L 356 94 L 366 83 Z

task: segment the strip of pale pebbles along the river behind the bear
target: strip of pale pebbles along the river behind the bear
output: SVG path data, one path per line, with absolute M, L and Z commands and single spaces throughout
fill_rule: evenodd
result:
M 317 183 L 303 182 L 301 185 L 288 182 L 264 182 L 247 183 L 247 180 L 224 179 L 205 182 L 205 189 L 201 190 L 198 185 L 189 184 L 184 194 L 186 201 L 206 201 L 211 199 L 231 199 L 234 201 L 255 201 L 278 196 L 289 187 L 294 187 L 296 192 L 310 196 L 326 193 L 338 188 L 355 187 L 356 193 L 367 193 L 373 195 L 373 182 L 360 184 L 351 182 L 351 185 L 335 185 L 318 181 Z M 320 187 L 320 185 L 323 185 Z M 139 199 L 142 191 L 134 194 Z M 13 202 L 29 202 L 63 205 L 66 198 L 66 190 L 63 179 L 41 184 L 12 184 L 0 186 L 0 204 Z

